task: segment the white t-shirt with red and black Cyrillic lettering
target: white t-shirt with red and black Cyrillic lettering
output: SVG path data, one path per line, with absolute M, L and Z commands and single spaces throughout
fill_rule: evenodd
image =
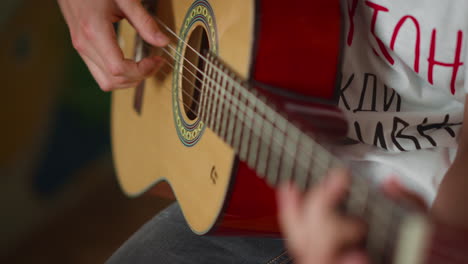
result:
M 468 1 L 346 0 L 340 108 L 353 167 L 429 202 L 463 121 Z

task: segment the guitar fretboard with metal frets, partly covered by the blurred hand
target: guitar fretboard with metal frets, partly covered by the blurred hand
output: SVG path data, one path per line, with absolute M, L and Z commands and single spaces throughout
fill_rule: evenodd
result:
M 343 162 L 285 113 L 212 55 L 205 63 L 199 117 L 272 186 L 292 181 L 306 190 Z M 392 259 L 400 221 L 409 211 L 387 199 L 366 178 L 353 176 L 344 213 L 368 223 L 373 263 Z

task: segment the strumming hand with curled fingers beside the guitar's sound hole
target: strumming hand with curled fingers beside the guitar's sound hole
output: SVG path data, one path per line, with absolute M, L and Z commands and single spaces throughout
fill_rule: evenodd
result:
M 163 47 L 169 39 L 138 0 L 58 0 L 73 46 L 104 91 L 136 86 L 163 64 L 161 57 L 139 62 L 125 59 L 113 23 L 123 18 L 149 44 Z

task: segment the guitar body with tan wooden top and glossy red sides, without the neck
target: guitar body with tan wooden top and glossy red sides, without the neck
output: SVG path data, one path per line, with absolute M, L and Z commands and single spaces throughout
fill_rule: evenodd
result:
M 167 59 L 170 65 L 147 79 L 144 87 L 113 92 L 113 153 L 123 190 L 137 196 L 167 181 L 197 234 L 278 235 L 274 189 L 184 106 L 193 105 L 189 97 L 197 96 L 185 83 L 191 77 L 184 77 L 184 59 L 199 64 L 187 44 L 209 49 L 285 111 L 288 102 L 333 103 L 339 1 L 152 4 L 155 15 L 183 41 L 166 33 L 177 48 L 167 48 L 174 55 Z M 122 22 L 120 43 L 129 58 L 135 56 L 135 39 L 133 28 Z

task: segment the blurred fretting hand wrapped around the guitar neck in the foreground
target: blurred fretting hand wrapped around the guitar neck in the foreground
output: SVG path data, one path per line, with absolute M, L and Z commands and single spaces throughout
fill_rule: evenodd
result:
M 294 263 L 369 263 L 359 248 L 366 233 L 364 223 L 336 210 L 346 196 L 349 181 L 346 171 L 331 170 L 326 180 L 304 195 L 291 184 L 280 187 L 279 220 Z M 395 200 L 409 201 L 427 210 L 418 195 L 393 178 L 382 189 Z

